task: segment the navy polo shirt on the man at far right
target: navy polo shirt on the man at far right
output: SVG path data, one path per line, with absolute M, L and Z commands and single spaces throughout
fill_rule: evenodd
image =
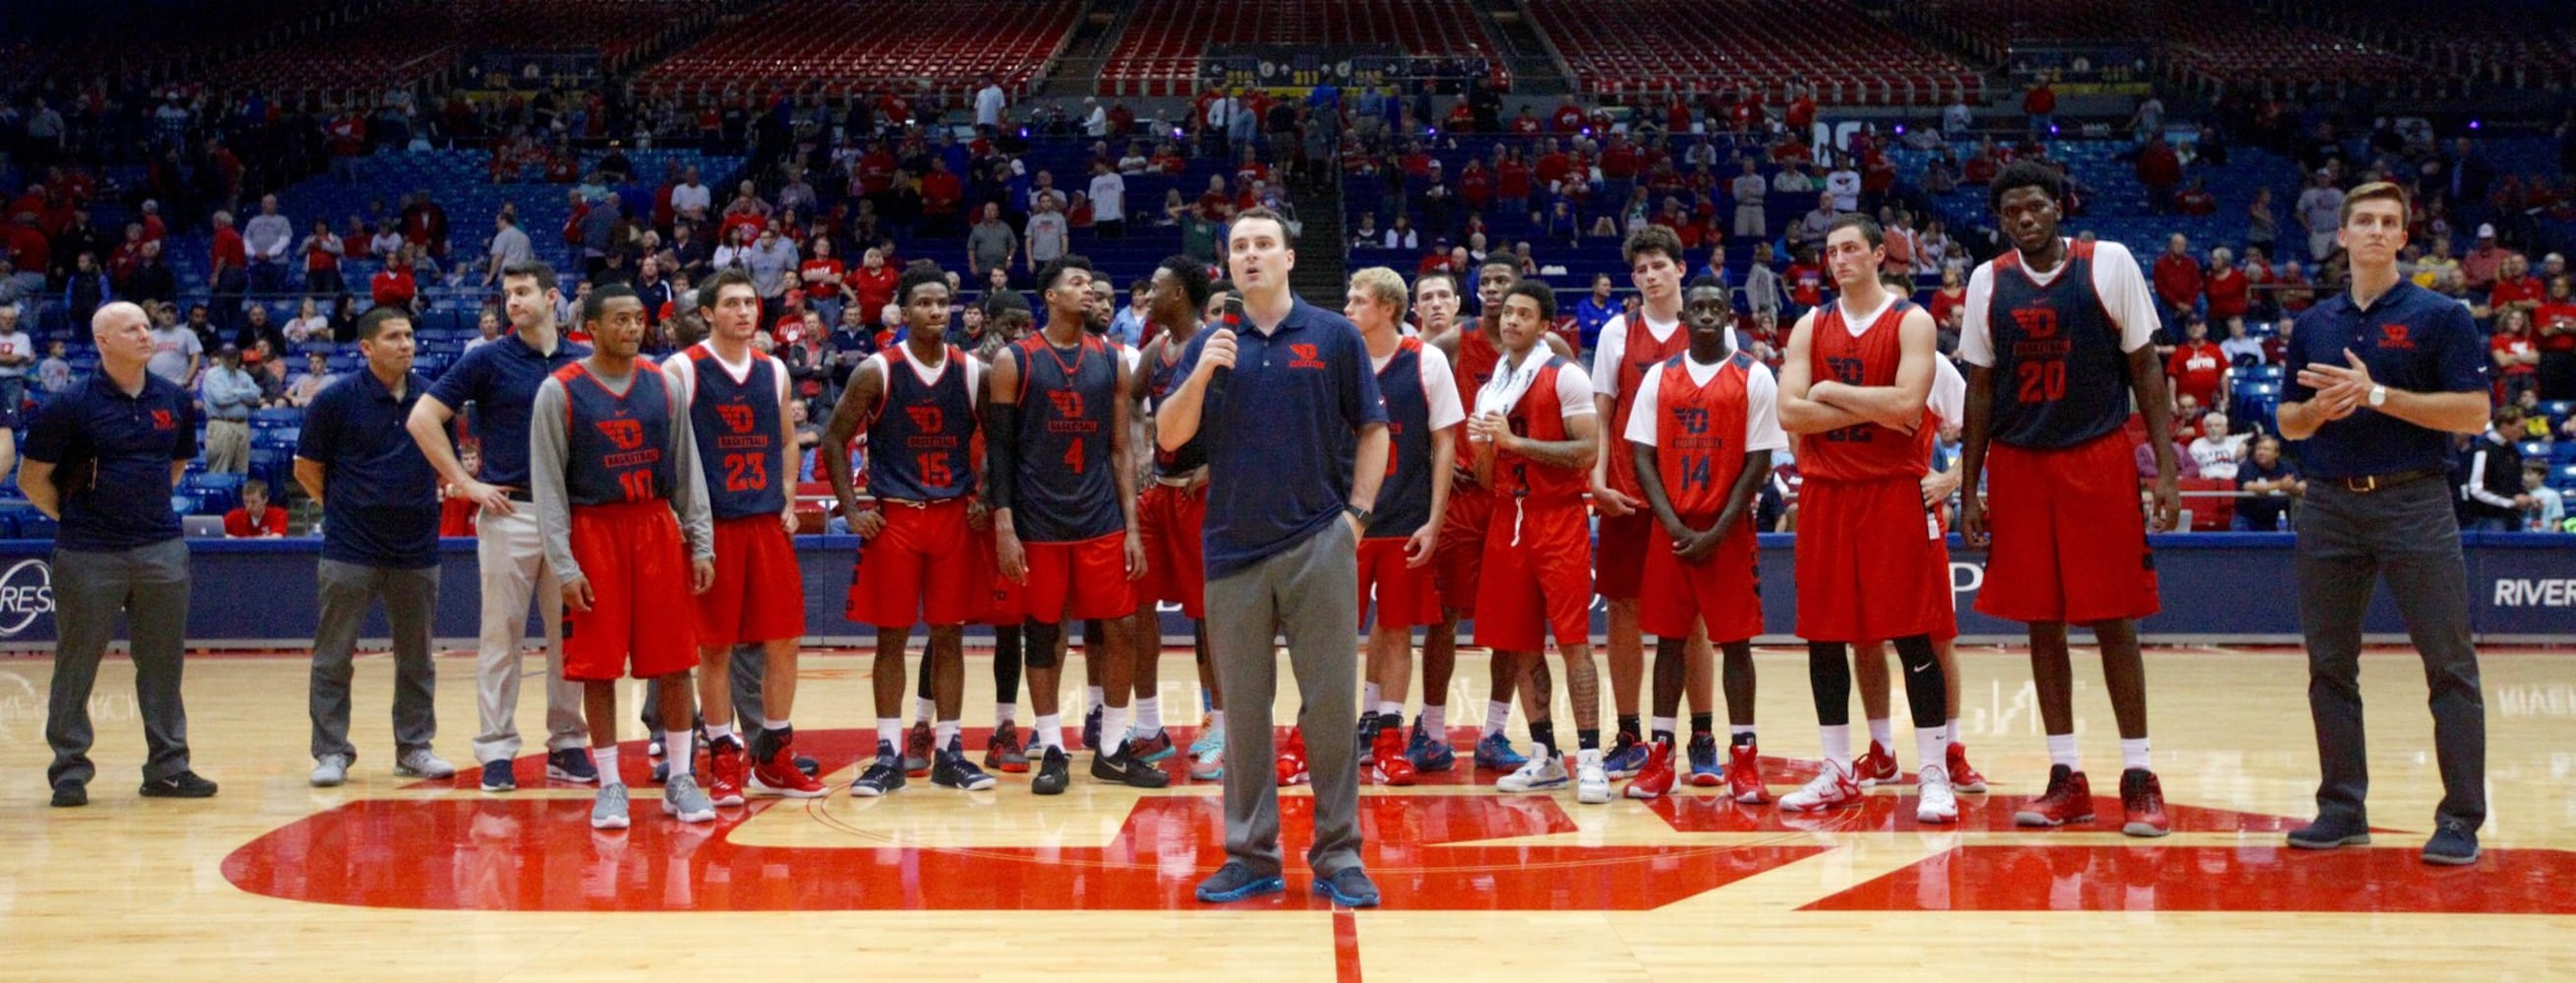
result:
M 2282 401 L 2308 401 L 2316 391 L 2298 383 L 2308 363 L 2349 365 L 2344 350 L 2370 365 L 2370 381 L 2414 394 L 2486 391 L 2486 337 L 2468 309 L 2442 293 L 2398 280 L 2367 309 L 2352 293 L 2336 293 L 2298 317 L 2290 350 L 2282 353 Z M 2326 422 L 2308 437 L 2300 463 L 2308 479 L 2357 479 L 2414 468 L 2450 466 L 2450 435 L 2416 427 L 2362 404 L 2352 417 Z

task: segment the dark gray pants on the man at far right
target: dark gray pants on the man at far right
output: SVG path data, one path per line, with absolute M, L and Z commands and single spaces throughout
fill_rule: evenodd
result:
M 2468 643 L 2468 569 L 2460 522 L 2442 479 L 2380 492 L 2311 481 L 2298 510 L 2298 623 L 2308 636 L 2308 713 L 2316 718 L 2318 816 L 2365 823 L 2370 762 L 2362 754 L 2362 612 L 2370 587 L 2406 620 L 2432 690 L 2432 746 L 2442 767 L 2439 818 L 2486 823 L 2486 697 L 2478 648 Z

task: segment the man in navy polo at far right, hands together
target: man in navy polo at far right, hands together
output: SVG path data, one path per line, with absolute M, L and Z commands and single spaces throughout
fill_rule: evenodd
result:
M 2308 440 L 2298 620 L 2321 772 L 2316 821 L 2290 831 L 2290 847 L 2370 841 L 2360 654 L 2370 587 L 2385 576 L 2432 682 L 2442 805 L 2424 862 L 2470 865 L 2486 821 L 2486 697 L 2442 479 L 2450 435 L 2486 430 L 2486 342 L 2460 304 L 2398 278 L 2406 190 L 2352 188 L 2336 242 L 2352 257 L 2352 291 L 2298 319 L 2280 407 L 2280 435 Z

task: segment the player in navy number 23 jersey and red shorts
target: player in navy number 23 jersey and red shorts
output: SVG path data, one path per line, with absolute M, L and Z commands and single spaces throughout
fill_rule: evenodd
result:
M 796 528 L 788 484 L 796 440 L 788 437 L 788 368 L 752 350 L 760 291 L 742 270 L 719 270 L 698 286 L 703 342 L 667 358 L 672 394 L 706 473 L 716 520 L 716 584 L 698 594 L 698 705 L 706 718 L 706 793 L 716 805 L 742 805 L 742 787 L 762 795 L 819 798 L 824 785 L 796 769 L 796 641 L 804 636 L 804 574 L 796 571 Z M 760 721 L 750 762 L 734 736 L 734 646 L 760 646 Z M 688 767 L 688 759 L 675 759 Z

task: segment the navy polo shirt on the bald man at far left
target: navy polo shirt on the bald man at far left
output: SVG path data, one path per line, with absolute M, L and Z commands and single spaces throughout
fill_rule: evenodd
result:
M 180 535 L 170 463 L 196 458 L 196 412 L 167 378 L 144 373 L 144 391 L 126 394 L 98 371 L 44 401 L 26 432 L 26 458 L 54 466 L 57 548 L 118 553 L 167 543 Z

